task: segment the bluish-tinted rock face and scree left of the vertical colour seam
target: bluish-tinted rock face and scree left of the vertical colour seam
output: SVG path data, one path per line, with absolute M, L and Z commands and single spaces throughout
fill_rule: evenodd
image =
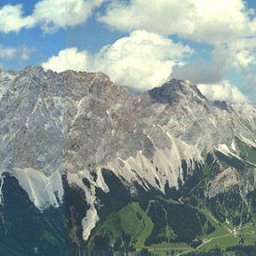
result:
M 15 176 L 34 206 L 63 196 L 64 76 L 29 67 L 0 74 L 0 168 Z

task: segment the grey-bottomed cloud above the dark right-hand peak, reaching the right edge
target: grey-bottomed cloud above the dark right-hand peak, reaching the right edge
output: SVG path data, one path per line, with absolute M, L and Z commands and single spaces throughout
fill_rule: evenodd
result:
M 220 44 L 211 51 L 207 61 L 191 61 L 174 66 L 171 77 L 187 79 L 195 84 L 215 84 L 223 80 L 231 70 L 250 72 L 256 64 L 256 44 L 252 38 L 245 38 L 229 44 Z

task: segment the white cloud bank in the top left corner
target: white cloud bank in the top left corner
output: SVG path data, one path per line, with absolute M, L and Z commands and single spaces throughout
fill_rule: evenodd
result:
M 86 20 L 104 0 L 41 0 L 31 15 L 24 16 L 22 5 L 0 8 L 0 32 L 19 33 L 23 28 L 41 27 L 45 33 L 74 27 Z

